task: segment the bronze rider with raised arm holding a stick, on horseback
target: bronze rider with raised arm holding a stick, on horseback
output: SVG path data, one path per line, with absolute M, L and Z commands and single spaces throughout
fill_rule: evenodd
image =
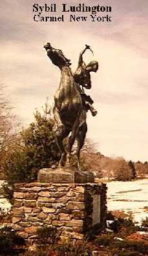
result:
M 83 54 L 87 49 L 90 49 L 89 45 L 86 45 L 85 49 L 79 54 L 78 68 L 74 72 L 74 80 L 77 83 L 78 91 L 81 94 L 83 107 L 92 113 L 92 116 L 96 116 L 97 111 L 94 109 L 92 104 L 94 101 L 85 94 L 83 87 L 91 89 L 90 72 L 97 72 L 98 61 L 90 61 L 88 65 L 83 61 Z

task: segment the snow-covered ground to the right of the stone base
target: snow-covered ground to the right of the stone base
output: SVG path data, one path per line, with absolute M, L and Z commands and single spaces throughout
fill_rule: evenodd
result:
M 136 222 L 148 217 L 148 179 L 134 182 L 108 182 L 107 187 L 109 211 L 132 211 Z

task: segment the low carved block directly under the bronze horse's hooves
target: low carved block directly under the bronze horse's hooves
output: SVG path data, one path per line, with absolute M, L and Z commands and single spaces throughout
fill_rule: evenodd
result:
M 41 183 L 94 183 L 94 175 L 90 171 L 78 171 L 70 168 L 41 169 L 37 181 Z

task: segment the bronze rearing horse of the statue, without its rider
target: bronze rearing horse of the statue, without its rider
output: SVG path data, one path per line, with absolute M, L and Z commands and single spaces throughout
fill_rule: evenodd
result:
M 61 70 L 61 80 L 54 95 L 53 110 L 57 127 L 56 141 L 61 152 L 59 166 L 64 166 L 65 163 L 69 164 L 72 145 L 77 140 L 78 148 L 76 155 L 79 167 L 79 153 L 83 147 L 87 133 L 86 111 L 82 106 L 81 96 L 70 69 L 69 59 L 65 58 L 61 50 L 51 47 L 50 43 L 47 43 L 44 48 L 47 50 L 47 56 L 52 63 Z M 66 152 L 63 139 L 69 136 L 69 134 L 70 137 Z

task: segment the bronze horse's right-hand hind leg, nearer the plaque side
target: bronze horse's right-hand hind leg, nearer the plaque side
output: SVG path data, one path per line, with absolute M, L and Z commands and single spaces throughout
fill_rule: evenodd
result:
M 78 142 L 78 147 L 76 151 L 78 169 L 81 169 L 80 163 L 79 163 L 79 155 L 80 155 L 81 148 L 84 145 L 86 134 L 87 134 L 87 123 L 83 123 L 83 125 L 79 127 L 77 138 L 76 138 Z

